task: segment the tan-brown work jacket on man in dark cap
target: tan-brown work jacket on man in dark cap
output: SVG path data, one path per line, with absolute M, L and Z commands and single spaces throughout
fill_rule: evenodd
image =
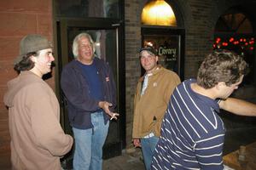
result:
M 180 79 L 175 72 L 159 66 L 148 77 L 148 87 L 141 96 L 143 77 L 139 79 L 134 99 L 133 139 L 141 139 L 148 133 L 160 137 L 160 126 L 168 102 L 179 83 Z

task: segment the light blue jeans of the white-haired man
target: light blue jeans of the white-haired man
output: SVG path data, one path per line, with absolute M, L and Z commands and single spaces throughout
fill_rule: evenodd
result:
M 73 127 L 75 150 L 74 170 L 102 170 L 102 147 L 108 135 L 109 122 L 104 124 L 102 112 L 91 114 L 93 128 Z

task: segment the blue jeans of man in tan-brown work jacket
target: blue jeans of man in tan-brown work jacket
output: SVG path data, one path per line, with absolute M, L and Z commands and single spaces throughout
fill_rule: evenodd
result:
M 143 160 L 147 170 L 150 170 L 151 161 L 154 155 L 154 149 L 158 142 L 158 139 L 159 138 L 156 136 L 153 136 L 147 139 L 145 138 L 141 139 L 142 150 L 143 150 Z

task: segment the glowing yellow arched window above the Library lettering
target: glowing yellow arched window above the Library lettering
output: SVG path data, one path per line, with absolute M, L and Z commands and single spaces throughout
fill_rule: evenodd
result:
M 146 4 L 142 13 L 143 25 L 177 26 L 172 7 L 164 0 L 154 0 Z

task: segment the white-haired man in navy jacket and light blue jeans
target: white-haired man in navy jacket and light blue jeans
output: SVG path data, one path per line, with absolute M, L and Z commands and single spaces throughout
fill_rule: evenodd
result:
M 87 33 L 73 40 L 73 61 L 61 73 L 67 98 L 68 118 L 73 127 L 73 169 L 101 170 L 102 147 L 109 118 L 116 119 L 116 88 L 109 65 L 95 57 L 95 44 Z

